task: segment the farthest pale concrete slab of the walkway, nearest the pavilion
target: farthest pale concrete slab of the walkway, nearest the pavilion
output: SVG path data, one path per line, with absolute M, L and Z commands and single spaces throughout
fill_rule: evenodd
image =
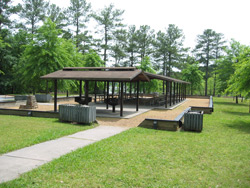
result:
M 68 137 L 99 141 L 104 138 L 116 135 L 127 129 L 128 129 L 127 127 L 98 126 L 94 129 L 78 132 Z

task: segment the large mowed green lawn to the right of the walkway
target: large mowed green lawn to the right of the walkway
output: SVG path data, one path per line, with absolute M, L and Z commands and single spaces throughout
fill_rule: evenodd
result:
M 133 128 L 0 187 L 250 187 L 250 114 L 215 98 L 202 133 Z

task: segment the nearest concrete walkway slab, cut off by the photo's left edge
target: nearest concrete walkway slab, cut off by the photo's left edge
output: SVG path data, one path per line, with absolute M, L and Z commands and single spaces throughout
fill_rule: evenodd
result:
M 20 174 L 28 172 L 46 161 L 0 156 L 0 183 L 18 178 Z

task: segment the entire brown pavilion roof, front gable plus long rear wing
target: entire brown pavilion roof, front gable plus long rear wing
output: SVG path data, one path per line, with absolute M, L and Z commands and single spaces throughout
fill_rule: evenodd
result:
M 42 79 L 73 79 L 89 81 L 114 81 L 114 82 L 149 82 L 158 79 L 170 82 L 189 84 L 171 77 L 143 72 L 136 67 L 65 67 L 45 76 Z

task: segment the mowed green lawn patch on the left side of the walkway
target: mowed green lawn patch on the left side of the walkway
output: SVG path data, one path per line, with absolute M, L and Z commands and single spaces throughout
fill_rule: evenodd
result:
M 0 154 L 92 127 L 62 123 L 56 118 L 0 115 Z

